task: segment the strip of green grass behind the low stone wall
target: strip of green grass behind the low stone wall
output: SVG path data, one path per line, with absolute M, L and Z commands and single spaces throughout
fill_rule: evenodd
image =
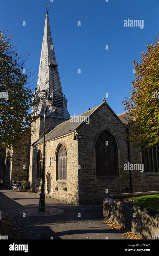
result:
M 157 195 L 145 195 L 145 196 L 134 196 L 127 199 L 133 200 L 132 204 L 149 208 L 155 211 L 159 211 L 159 194 Z

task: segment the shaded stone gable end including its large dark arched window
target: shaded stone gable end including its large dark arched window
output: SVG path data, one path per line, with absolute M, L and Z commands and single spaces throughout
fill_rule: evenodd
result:
M 127 141 L 123 139 L 125 126 L 108 104 L 103 102 L 90 115 L 89 124 L 81 124 L 76 131 L 81 137 L 78 140 L 79 203 L 90 203 L 92 197 L 94 202 L 102 201 L 106 189 L 108 193 L 126 192 L 129 173 L 123 170 L 128 162 Z

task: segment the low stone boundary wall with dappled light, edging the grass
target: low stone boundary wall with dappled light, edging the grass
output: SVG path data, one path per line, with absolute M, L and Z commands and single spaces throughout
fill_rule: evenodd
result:
M 133 217 L 134 213 L 136 217 Z M 103 200 L 103 217 L 145 239 L 159 237 L 159 212 L 111 198 Z

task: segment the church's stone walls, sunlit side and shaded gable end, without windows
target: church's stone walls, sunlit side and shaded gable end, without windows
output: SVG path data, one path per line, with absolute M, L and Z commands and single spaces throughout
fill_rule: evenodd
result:
M 40 117 L 41 118 L 41 117 Z M 43 120 L 38 118 L 36 132 L 32 133 L 32 143 L 35 142 L 43 132 Z M 56 125 L 56 122 L 65 120 L 47 120 L 46 130 Z M 109 131 L 117 142 L 118 147 L 118 177 L 97 177 L 96 176 L 96 157 L 95 142 L 103 130 Z M 51 196 L 67 202 L 76 204 L 95 204 L 102 203 L 105 196 L 117 193 L 130 192 L 129 171 L 124 170 L 124 164 L 128 163 L 127 141 L 124 139 L 125 127 L 120 120 L 112 113 L 109 106 L 105 103 L 90 116 L 90 124 L 80 125 L 76 132 L 81 136 L 78 140 L 73 140 L 73 133 L 61 138 L 46 142 L 45 159 L 45 193 L 47 194 L 47 176 L 51 175 Z M 67 181 L 56 180 L 56 150 L 62 143 L 67 152 Z M 34 191 L 40 191 L 37 183 L 37 153 L 42 151 L 43 144 L 31 146 L 29 180 Z M 50 164 L 51 159 L 51 164 Z M 130 143 L 130 162 L 142 163 L 140 150 L 134 149 Z M 50 166 L 49 166 L 50 165 Z M 80 168 L 78 168 L 80 165 Z M 159 190 L 159 175 L 154 173 L 143 173 L 131 171 L 133 192 Z M 55 188 L 58 188 L 56 191 Z M 63 188 L 67 188 L 64 191 Z M 108 193 L 106 190 L 108 189 Z

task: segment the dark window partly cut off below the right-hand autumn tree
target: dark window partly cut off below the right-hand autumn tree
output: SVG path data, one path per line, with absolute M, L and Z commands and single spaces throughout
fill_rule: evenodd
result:
M 144 164 L 144 172 L 159 171 L 159 146 L 146 148 L 142 151 L 142 162 Z

